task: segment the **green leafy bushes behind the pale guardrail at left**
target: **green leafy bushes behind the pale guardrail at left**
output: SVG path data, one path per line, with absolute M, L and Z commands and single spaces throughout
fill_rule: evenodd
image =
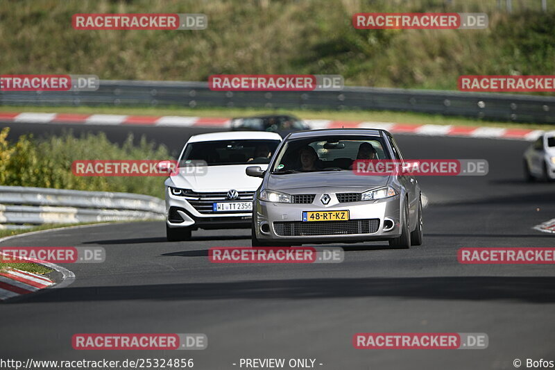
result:
M 51 187 L 54 189 L 130 192 L 164 197 L 164 177 L 82 177 L 71 172 L 74 160 L 167 160 L 164 145 L 142 137 L 137 145 L 129 135 L 121 146 L 108 141 L 104 133 L 87 133 L 35 139 L 19 137 L 15 144 L 6 140 L 9 128 L 0 131 L 0 185 Z

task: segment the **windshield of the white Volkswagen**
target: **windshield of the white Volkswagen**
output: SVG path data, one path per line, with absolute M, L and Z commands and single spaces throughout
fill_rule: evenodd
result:
M 205 161 L 209 166 L 269 163 L 279 140 L 220 140 L 187 144 L 179 167 L 192 161 Z

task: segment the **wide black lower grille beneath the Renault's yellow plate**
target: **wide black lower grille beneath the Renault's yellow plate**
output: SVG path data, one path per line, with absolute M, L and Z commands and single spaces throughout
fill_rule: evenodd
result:
M 317 235 L 373 234 L 379 228 L 379 219 L 352 219 L 349 221 L 279 221 L 273 223 L 275 233 L 282 237 Z

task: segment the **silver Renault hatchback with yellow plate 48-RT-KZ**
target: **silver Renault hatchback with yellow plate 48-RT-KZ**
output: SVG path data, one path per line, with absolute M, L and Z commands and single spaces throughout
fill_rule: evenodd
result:
M 268 169 L 246 168 L 263 178 L 253 199 L 253 246 L 387 240 L 389 246 L 422 244 L 420 186 L 404 173 L 364 176 L 357 160 L 398 160 L 402 154 L 384 130 L 341 128 L 298 131 L 275 151 Z

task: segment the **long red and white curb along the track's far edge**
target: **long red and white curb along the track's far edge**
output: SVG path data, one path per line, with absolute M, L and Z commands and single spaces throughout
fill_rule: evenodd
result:
M 67 113 L 0 112 L 0 121 L 20 124 L 85 124 L 99 126 L 230 127 L 230 118 L 186 116 L 83 115 Z M 376 121 L 332 121 L 305 119 L 317 128 L 382 128 L 390 133 L 427 136 L 481 137 L 490 139 L 535 140 L 543 131 L 527 128 L 399 124 Z

